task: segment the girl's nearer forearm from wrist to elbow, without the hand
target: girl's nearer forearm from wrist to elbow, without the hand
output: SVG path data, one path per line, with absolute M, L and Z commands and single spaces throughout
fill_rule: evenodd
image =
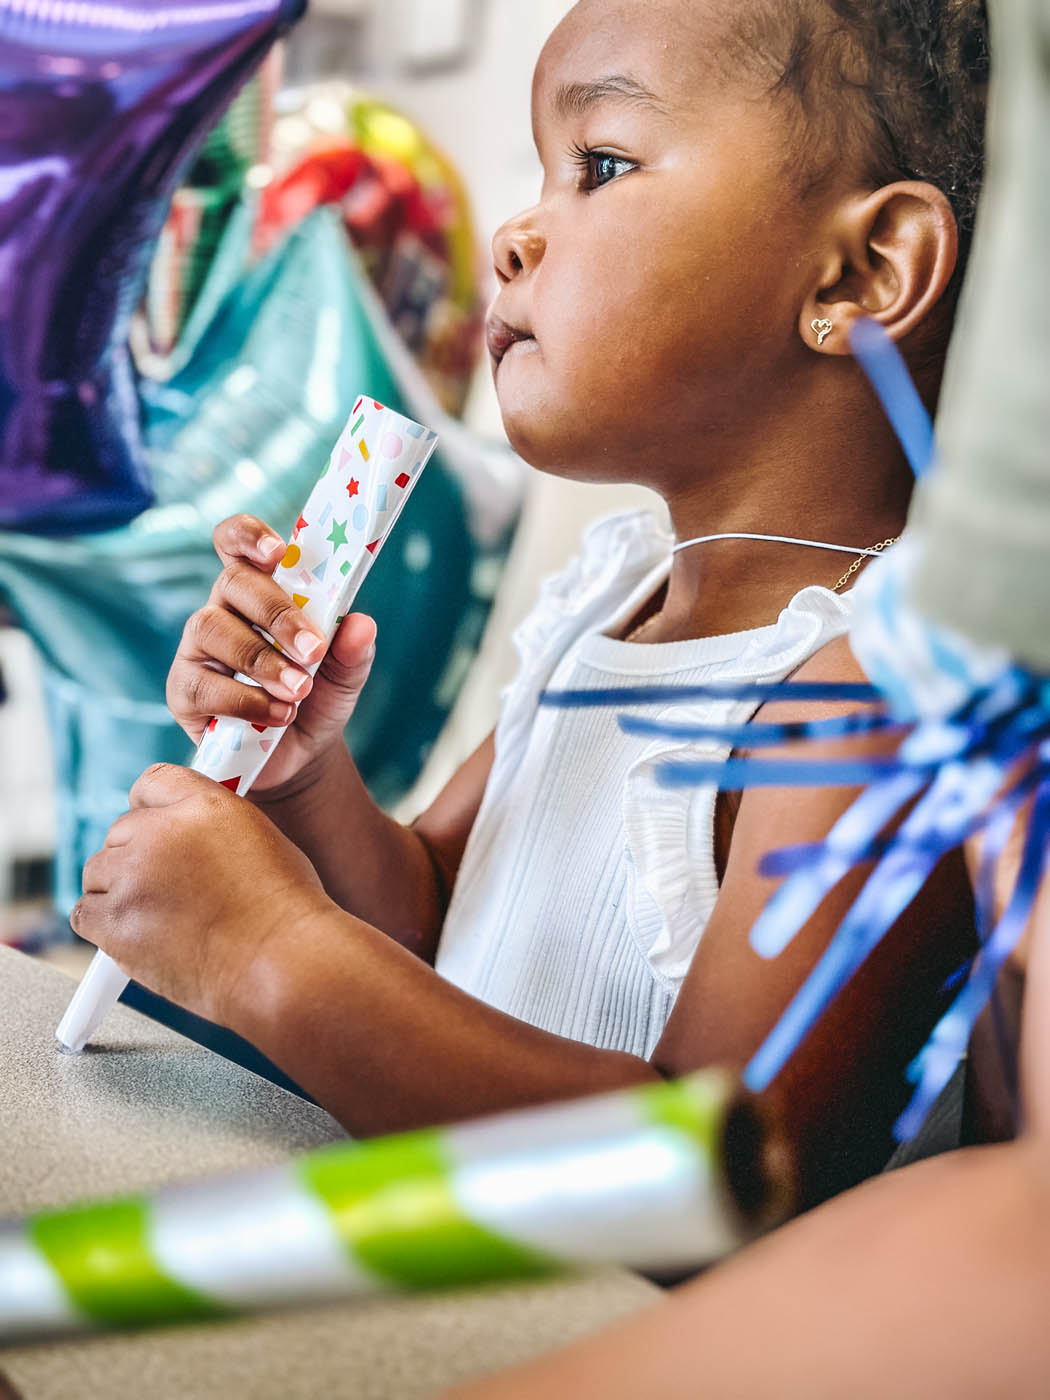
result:
M 449 1123 L 658 1078 L 539 1030 L 333 910 L 263 946 L 223 1019 L 354 1135 Z

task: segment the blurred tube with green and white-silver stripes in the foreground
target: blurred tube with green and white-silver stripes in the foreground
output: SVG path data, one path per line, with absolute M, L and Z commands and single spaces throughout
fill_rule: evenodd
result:
M 0 1225 L 0 1343 L 279 1303 L 714 1260 L 785 1214 L 731 1075 L 323 1148 Z

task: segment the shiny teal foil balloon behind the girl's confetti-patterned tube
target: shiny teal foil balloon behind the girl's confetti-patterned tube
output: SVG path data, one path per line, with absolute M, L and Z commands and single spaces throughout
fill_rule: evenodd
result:
M 245 209 L 228 228 L 217 256 L 227 269 L 239 263 L 249 218 Z M 46 662 L 62 907 L 78 897 L 81 864 L 139 773 L 188 759 L 164 682 L 218 570 L 214 525 L 251 511 L 287 536 L 361 389 L 413 416 L 363 309 L 361 283 L 337 211 L 322 209 L 225 298 L 206 286 L 199 305 L 213 308 L 211 319 L 202 328 L 195 316 L 182 368 L 162 385 L 143 384 L 157 503 L 120 531 L 3 538 L 0 592 Z M 379 645 L 347 738 L 378 801 L 403 795 L 445 720 L 507 533 L 476 539 L 438 449 L 357 603 L 377 619 Z

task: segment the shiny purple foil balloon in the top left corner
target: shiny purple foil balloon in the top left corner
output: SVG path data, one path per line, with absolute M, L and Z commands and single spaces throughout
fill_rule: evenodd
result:
M 304 0 L 0 0 L 0 528 L 150 504 L 126 346 L 172 189 Z

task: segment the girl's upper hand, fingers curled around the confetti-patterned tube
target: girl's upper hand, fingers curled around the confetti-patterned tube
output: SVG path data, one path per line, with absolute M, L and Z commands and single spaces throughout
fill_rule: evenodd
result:
M 364 613 L 346 617 L 311 680 L 305 665 L 316 661 L 325 643 L 270 577 L 284 553 L 283 540 L 253 515 L 231 515 L 216 526 L 213 540 L 223 573 L 182 633 L 168 672 L 168 708 L 195 743 L 217 714 L 288 725 L 253 784 L 255 791 L 266 791 L 342 742 L 371 671 L 375 623 Z M 281 651 L 252 624 L 265 629 Z M 262 689 L 235 680 L 238 671 Z

